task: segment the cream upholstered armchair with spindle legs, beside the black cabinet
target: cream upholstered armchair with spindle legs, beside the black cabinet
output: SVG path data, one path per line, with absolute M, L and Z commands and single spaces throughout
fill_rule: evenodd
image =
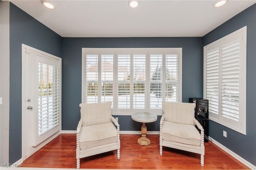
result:
M 194 118 L 195 103 L 162 102 L 160 120 L 160 155 L 162 146 L 201 154 L 204 166 L 204 129 Z M 200 132 L 195 127 L 200 129 Z

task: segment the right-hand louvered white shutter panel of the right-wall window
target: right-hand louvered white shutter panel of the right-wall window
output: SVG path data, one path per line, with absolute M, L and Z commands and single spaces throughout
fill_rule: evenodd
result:
M 237 34 L 224 40 L 222 45 L 222 120 L 236 127 L 241 126 L 239 123 L 241 40 L 242 35 Z

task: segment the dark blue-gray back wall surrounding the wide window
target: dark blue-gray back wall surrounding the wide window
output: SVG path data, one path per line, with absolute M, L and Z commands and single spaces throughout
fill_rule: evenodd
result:
M 82 96 L 82 48 L 182 47 L 182 101 L 203 96 L 202 38 L 63 38 L 62 39 L 62 130 L 76 130 Z M 130 116 L 117 116 L 120 130 L 140 130 Z M 159 122 L 147 124 L 159 131 Z

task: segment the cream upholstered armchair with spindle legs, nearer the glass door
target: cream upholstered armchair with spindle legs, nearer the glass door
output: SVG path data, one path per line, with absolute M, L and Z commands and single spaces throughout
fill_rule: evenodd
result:
M 81 119 L 76 129 L 76 168 L 80 168 L 80 158 L 111 150 L 117 149 L 117 159 L 120 158 L 120 128 L 111 115 L 111 105 L 110 101 L 79 105 Z

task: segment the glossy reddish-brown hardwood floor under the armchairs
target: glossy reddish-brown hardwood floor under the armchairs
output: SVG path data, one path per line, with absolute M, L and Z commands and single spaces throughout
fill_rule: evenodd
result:
M 200 155 L 163 147 L 159 154 L 159 135 L 147 135 L 149 146 L 140 146 L 138 134 L 120 134 L 120 160 L 117 151 L 80 159 L 88 169 L 249 169 L 212 142 L 205 143 L 204 166 Z M 76 134 L 60 134 L 22 163 L 22 167 L 76 168 Z

